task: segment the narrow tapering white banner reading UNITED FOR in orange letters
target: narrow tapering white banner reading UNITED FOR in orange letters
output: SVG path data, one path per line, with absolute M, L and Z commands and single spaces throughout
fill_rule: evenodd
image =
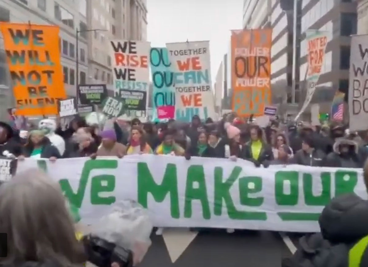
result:
M 325 63 L 325 50 L 328 43 L 327 34 L 328 32 L 318 30 L 308 30 L 306 32 L 308 55 L 308 68 L 306 75 L 307 95 L 305 96 L 303 106 L 298 115 L 295 117 L 295 120 L 300 117 L 300 115 L 305 111 L 309 103 L 312 101 L 319 76 L 322 73 L 322 67 Z

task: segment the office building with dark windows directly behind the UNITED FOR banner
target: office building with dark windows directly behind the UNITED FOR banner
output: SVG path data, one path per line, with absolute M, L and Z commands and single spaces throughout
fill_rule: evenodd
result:
M 330 112 L 330 103 L 337 89 L 347 99 L 350 67 L 350 35 L 357 34 L 357 5 L 353 1 L 301 0 L 301 32 L 308 29 L 326 31 L 329 42 L 325 51 L 325 64 L 319 77 L 312 103 L 322 103 L 321 112 Z M 307 71 L 307 42 L 300 43 L 300 85 Z M 301 87 L 304 89 L 304 87 Z M 305 90 L 301 90 L 302 99 Z M 328 104 L 328 105 L 323 105 Z

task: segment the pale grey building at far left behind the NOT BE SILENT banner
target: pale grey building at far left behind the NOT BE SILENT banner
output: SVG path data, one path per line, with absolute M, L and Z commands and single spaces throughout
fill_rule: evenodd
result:
M 77 84 L 75 67 L 75 29 L 86 28 L 86 0 L 0 0 L 0 21 L 59 25 L 59 48 L 64 71 L 64 88 L 69 96 L 75 96 Z M 79 39 L 79 71 L 88 73 L 87 38 Z M 14 105 L 13 90 L 6 64 L 4 45 L 0 42 L 0 119 L 6 109 Z

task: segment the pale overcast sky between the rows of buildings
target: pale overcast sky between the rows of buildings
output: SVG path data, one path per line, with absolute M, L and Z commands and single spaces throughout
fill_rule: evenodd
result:
M 210 41 L 212 83 L 230 48 L 230 30 L 241 29 L 243 0 L 147 0 L 148 41 Z

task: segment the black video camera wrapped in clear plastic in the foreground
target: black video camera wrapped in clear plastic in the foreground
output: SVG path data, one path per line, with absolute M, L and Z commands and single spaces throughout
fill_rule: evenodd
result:
M 82 242 L 88 261 L 98 267 L 132 267 L 139 263 L 148 247 L 152 223 L 148 212 L 139 203 L 120 201 L 112 211 L 93 223 Z

